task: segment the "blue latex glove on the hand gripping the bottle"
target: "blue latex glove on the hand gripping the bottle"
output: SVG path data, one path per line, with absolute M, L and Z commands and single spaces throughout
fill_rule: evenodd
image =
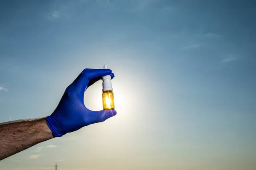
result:
M 84 105 L 84 91 L 102 76 L 114 74 L 110 69 L 86 68 L 64 92 L 55 111 L 47 116 L 47 124 L 54 136 L 79 130 L 81 127 L 103 122 L 115 116 L 115 110 L 90 111 Z

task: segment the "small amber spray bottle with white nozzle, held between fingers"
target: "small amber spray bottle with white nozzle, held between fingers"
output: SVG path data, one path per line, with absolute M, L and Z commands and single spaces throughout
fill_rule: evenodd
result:
M 104 65 L 104 69 L 108 69 L 107 65 Z M 113 94 L 113 88 L 111 83 L 111 76 L 103 76 L 102 77 L 102 104 L 103 104 L 103 110 L 111 110 L 115 109 L 114 104 L 114 94 Z

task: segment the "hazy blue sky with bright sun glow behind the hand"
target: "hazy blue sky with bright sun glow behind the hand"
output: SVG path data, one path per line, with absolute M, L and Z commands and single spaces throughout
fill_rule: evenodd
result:
M 117 115 L 0 170 L 254 170 L 253 0 L 3 0 L 0 122 L 50 115 L 108 65 Z M 102 82 L 84 96 L 102 110 Z

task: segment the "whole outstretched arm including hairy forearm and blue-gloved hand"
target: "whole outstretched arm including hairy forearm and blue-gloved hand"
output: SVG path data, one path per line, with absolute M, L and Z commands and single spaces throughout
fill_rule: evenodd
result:
M 79 130 L 81 127 L 104 122 L 115 116 L 116 111 L 114 110 L 90 111 L 84 105 L 84 91 L 105 75 L 114 77 L 109 69 L 84 69 L 67 87 L 57 108 L 50 116 L 34 121 L 0 124 L 0 160 L 37 143 L 53 137 L 61 137 L 66 133 Z M 32 125 L 35 128 L 32 128 Z M 45 128 L 44 132 L 38 133 L 42 127 Z M 19 132 L 19 137 L 15 130 Z M 13 136 L 14 133 L 16 137 Z

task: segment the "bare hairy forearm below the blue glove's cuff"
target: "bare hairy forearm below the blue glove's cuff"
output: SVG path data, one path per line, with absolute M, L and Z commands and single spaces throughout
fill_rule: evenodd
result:
M 0 160 L 53 137 L 45 118 L 0 124 Z

